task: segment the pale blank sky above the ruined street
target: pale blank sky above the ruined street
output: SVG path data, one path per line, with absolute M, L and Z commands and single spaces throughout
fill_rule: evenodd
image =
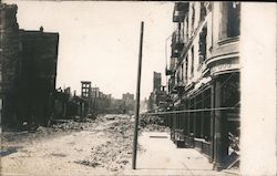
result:
M 153 72 L 165 80 L 165 43 L 174 27 L 173 2 L 13 1 L 21 29 L 59 32 L 57 87 L 91 81 L 113 97 L 135 94 L 140 25 L 144 21 L 141 99 L 153 89 Z M 167 42 L 170 45 L 170 41 Z M 168 56 L 168 54 L 167 54 Z

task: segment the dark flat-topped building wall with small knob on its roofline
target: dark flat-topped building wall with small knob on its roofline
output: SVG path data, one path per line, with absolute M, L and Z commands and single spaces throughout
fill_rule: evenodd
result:
M 59 33 L 21 30 L 20 38 L 20 120 L 45 125 L 53 113 Z

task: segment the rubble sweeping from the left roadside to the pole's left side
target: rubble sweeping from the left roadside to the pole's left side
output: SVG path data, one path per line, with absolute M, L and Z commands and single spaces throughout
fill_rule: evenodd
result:
M 138 128 L 140 130 L 140 128 Z M 83 157 L 78 157 L 75 164 L 89 167 L 104 168 L 112 173 L 120 174 L 124 168 L 131 165 L 134 118 L 130 115 L 99 115 L 95 120 L 86 120 L 85 122 L 75 122 L 74 120 L 59 120 L 50 127 L 39 126 L 33 132 L 24 134 L 9 135 L 6 141 L 19 141 L 31 143 L 34 139 L 52 138 L 63 134 L 72 134 L 72 132 L 89 131 L 93 134 L 99 143 L 92 143 L 88 153 Z M 140 135 L 141 131 L 138 131 Z M 103 141 L 100 139 L 103 137 Z M 137 149 L 143 152 L 138 145 Z

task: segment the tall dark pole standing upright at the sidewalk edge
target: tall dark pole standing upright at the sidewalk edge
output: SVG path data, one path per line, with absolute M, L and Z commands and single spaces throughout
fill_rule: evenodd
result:
M 133 159 L 132 159 L 132 168 L 133 169 L 136 168 L 137 131 L 138 131 L 140 94 L 141 94 L 141 72 L 142 72 L 143 27 L 144 27 L 144 22 L 142 21 L 142 24 L 141 24 L 140 55 L 138 55 L 138 69 L 137 69 L 137 82 L 136 82 L 135 128 L 134 128 Z

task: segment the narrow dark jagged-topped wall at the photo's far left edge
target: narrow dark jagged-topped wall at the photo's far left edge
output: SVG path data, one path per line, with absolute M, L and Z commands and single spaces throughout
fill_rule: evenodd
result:
M 0 107 L 2 123 L 16 123 L 16 92 L 20 71 L 17 6 L 0 3 Z

